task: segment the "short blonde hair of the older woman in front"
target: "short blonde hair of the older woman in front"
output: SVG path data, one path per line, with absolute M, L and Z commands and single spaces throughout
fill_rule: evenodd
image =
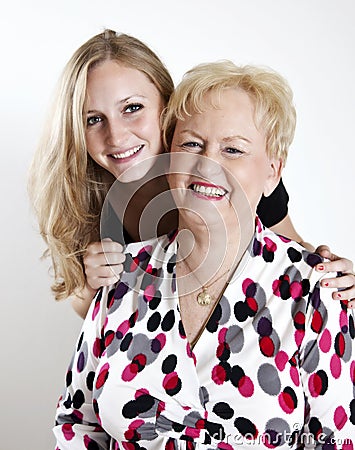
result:
M 237 66 L 231 61 L 199 64 L 186 72 L 170 97 L 163 121 L 164 144 L 170 148 L 176 121 L 202 112 L 204 97 L 224 89 L 245 91 L 255 102 L 255 124 L 267 137 L 269 157 L 287 159 L 296 127 L 293 93 L 287 81 L 270 68 Z M 218 105 L 213 105 L 218 107 Z

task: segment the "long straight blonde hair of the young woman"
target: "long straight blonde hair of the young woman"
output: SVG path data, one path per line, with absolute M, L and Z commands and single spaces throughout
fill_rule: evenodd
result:
M 114 60 L 143 72 L 167 104 L 174 85 L 158 56 L 140 40 L 105 30 L 71 57 L 29 170 L 28 190 L 52 258 L 56 300 L 85 285 L 83 255 L 99 240 L 100 212 L 113 177 L 87 153 L 84 104 L 89 71 Z

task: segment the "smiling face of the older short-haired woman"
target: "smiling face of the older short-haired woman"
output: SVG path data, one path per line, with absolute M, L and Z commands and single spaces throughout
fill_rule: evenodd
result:
M 181 218 L 198 211 L 209 222 L 217 208 L 227 224 L 238 211 L 244 214 L 245 204 L 255 216 L 261 195 L 279 180 L 281 163 L 267 156 L 254 102 L 240 89 L 224 89 L 218 97 L 209 92 L 203 112 L 178 120 L 171 152 L 169 185 Z

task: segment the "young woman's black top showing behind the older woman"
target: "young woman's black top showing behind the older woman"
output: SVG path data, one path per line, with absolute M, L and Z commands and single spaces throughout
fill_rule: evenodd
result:
M 284 219 L 288 213 L 289 196 L 285 186 L 280 180 L 274 192 L 269 197 L 262 197 L 257 208 L 257 214 L 266 227 L 272 227 Z M 175 227 L 175 224 L 174 224 Z M 101 215 L 101 239 L 110 237 L 113 241 L 127 245 L 132 238 L 122 227 L 109 201 L 105 201 Z

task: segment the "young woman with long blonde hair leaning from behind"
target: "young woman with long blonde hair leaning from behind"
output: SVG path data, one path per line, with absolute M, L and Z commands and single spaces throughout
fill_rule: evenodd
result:
M 137 224 L 149 202 L 168 189 L 164 175 L 149 176 L 161 154 L 160 115 L 173 92 L 163 63 L 134 37 L 106 30 L 84 43 L 60 79 L 53 110 L 30 171 L 30 196 L 54 268 L 56 299 L 74 297 L 84 317 L 100 286 L 122 271 L 122 242 L 100 242 L 100 213 L 115 178 L 134 165 L 125 183 L 147 176 L 122 218 L 126 241 L 139 241 Z M 146 164 L 144 162 L 146 161 Z M 259 205 L 261 220 L 301 242 L 287 214 L 288 196 L 280 182 Z M 155 218 L 152 217 L 154 222 Z M 157 219 L 158 220 L 158 219 Z M 171 212 L 158 234 L 176 226 Z M 342 271 L 330 287 L 348 288 L 339 299 L 355 297 L 352 263 L 325 249 L 332 262 L 319 267 Z

